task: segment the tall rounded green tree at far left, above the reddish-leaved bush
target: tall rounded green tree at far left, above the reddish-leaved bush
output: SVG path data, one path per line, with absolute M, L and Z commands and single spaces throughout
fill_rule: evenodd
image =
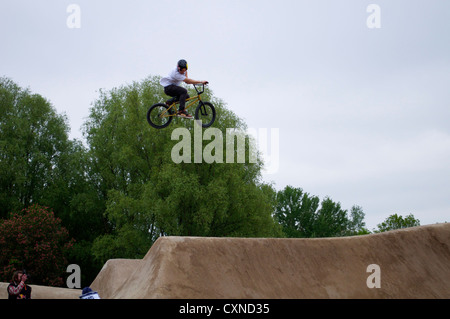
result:
M 38 94 L 0 78 L 0 217 L 40 202 L 68 148 L 64 116 Z

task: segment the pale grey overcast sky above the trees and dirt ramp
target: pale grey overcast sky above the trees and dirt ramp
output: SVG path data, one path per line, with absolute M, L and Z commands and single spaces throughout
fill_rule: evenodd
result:
M 71 138 L 100 88 L 184 58 L 249 128 L 278 129 L 276 189 L 359 205 L 370 230 L 450 222 L 450 1 L 2 0 L 0 30 L 0 76 Z

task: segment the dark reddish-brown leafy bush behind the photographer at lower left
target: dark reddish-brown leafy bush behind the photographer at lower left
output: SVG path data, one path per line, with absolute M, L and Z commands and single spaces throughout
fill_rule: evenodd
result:
M 46 207 L 32 205 L 0 220 L 0 280 L 26 269 L 33 283 L 63 285 L 67 254 L 74 240 Z

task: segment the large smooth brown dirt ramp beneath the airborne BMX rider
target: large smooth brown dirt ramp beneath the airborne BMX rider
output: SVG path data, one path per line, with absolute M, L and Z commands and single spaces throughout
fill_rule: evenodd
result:
M 116 279 L 103 269 L 92 284 L 102 297 L 450 298 L 450 224 L 343 238 L 161 237 L 116 266 Z

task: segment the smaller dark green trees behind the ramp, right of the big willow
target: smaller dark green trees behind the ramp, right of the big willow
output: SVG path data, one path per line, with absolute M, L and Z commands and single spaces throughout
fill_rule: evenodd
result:
M 335 237 L 367 233 L 364 229 L 364 213 L 359 206 L 353 206 L 348 216 L 340 203 L 333 202 L 329 197 L 320 202 L 317 196 L 292 186 L 279 191 L 276 199 L 275 217 L 287 237 Z

